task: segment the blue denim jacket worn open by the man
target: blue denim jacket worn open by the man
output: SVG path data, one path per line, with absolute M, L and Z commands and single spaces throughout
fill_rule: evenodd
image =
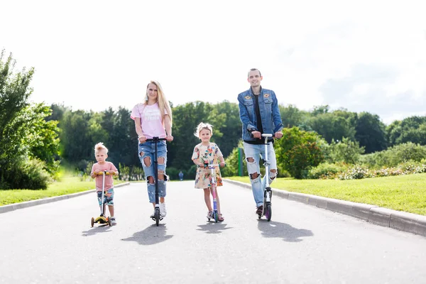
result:
M 261 113 L 263 133 L 274 134 L 283 129 L 280 108 L 275 93 L 271 89 L 261 89 L 258 94 L 259 111 Z M 251 88 L 238 95 L 240 119 L 243 123 L 242 138 L 245 141 L 255 141 L 249 129 L 257 129 L 256 112 L 254 109 L 255 98 Z

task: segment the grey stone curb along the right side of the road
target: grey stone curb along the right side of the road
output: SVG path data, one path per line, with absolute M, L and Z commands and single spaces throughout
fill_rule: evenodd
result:
M 251 185 L 236 180 L 226 180 L 234 185 L 246 187 L 251 190 Z M 344 200 L 335 200 L 328 197 L 320 197 L 317 195 L 306 195 L 299 192 L 288 192 L 286 190 L 277 190 L 272 188 L 273 195 L 279 196 L 288 200 L 302 202 L 308 205 L 327 209 L 332 212 L 363 219 L 371 224 L 387 226 L 400 231 L 426 236 L 426 216 L 400 212 L 393 209 L 378 207 L 371 204 L 356 203 Z M 0 207 L 1 209 L 1 207 Z

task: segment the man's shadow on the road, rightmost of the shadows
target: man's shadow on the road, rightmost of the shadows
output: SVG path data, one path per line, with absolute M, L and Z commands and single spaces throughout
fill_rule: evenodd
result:
M 313 236 L 312 231 L 307 229 L 297 229 L 289 224 L 280 222 L 267 222 L 264 219 L 258 220 L 258 229 L 262 236 L 266 238 L 283 238 L 283 241 L 297 242 L 303 236 Z

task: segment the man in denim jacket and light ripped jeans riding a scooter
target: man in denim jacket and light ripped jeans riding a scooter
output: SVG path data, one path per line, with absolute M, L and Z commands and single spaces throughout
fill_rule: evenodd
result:
M 281 121 L 280 109 L 277 97 L 270 89 L 261 87 L 263 79 L 261 72 L 251 69 L 247 76 L 250 89 L 238 95 L 239 114 L 244 141 L 244 153 L 246 155 L 247 170 L 249 172 L 251 190 L 253 190 L 256 202 L 256 214 L 261 216 L 263 211 L 263 190 L 266 180 L 261 180 L 261 168 L 259 159 L 265 155 L 263 133 L 271 133 L 275 138 L 283 137 L 283 122 Z M 275 180 L 277 175 L 277 160 L 273 149 L 273 138 L 269 138 L 268 160 L 270 161 L 269 184 Z

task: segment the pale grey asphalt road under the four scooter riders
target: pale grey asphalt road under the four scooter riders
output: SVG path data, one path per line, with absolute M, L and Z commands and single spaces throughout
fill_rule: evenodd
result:
M 251 191 L 219 187 L 224 222 L 202 190 L 168 182 L 168 216 L 149 218 L 145 184 L 116 188 L 117 226 L 90 227 L 94 192 L 0 214 L 0 283 L 425 283 L 426 238 L 273 198 L 258 220 Z

